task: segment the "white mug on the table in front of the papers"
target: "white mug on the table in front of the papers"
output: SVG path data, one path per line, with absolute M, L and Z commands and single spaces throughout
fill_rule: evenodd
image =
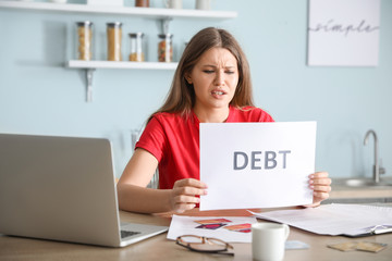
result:
M 286 224 L 255 223 L 252 225 L 252 256 L 258 261 L 283 260 L 284 244 L 290 228 Z

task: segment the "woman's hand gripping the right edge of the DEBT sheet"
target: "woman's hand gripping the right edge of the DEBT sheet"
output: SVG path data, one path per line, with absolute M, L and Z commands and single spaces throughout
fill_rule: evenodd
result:
M 314 202 L 305 207 L 317 207 L 322 200 L 328 199 L 331 191 L 331 183 L 328 172 L 316 172 L 309 175 L 309 187 L 314 190 Z

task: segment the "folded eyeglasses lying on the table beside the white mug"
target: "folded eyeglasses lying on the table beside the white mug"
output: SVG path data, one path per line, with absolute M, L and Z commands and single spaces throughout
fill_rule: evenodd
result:
M 234 249 L 234 247 L 218 238 L 184 235 L 179 236 L 175 243 L 196 252 L 234 256 L 233 252 L 226 252 L 229 249 Z

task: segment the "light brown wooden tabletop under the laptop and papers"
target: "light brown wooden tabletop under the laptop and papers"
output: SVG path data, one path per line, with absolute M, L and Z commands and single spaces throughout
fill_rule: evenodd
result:
M 246 211 L 207 211 L 194 210 L 187 215 L 235 216 L 247 215 Z M 170 215 L 149 215 L 121 212 L 122 221 L 144 224 L 170 225 Z M 260 221 L 264 222 L 264 221 Z M 125 248 L 105 248 L 78 244 L 0 236 L 0 260 L 252 260 L 250 244 L 233 244 L 234 257 L 206 254 L 189 251 L 168 240 L 167 233 Z M 392 260 L 392 234 L 371 236 L 360 239 L 320 236 L 291 227 L 289 240 L 301 240 L 310 246 L 305 250 L 286 250 L 284 260 Z M 327 244 L 339 241 L 367 240 L 388 244 L 389 247 L 378 253 L 352 251 L 341 252 L 327 247 Z

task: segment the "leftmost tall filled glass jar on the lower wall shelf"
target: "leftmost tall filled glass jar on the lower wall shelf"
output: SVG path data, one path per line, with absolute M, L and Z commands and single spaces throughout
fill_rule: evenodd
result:
M 90 61 L 93 59 L 93 23 L 77 22 L 76 34 L 77 60 Z

